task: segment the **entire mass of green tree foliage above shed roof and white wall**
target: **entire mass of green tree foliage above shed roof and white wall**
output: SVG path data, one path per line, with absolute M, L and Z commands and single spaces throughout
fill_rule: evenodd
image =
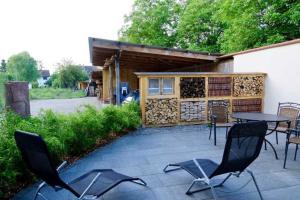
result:
M 299 0 L 136 0 L 123 41 L 229 53 L 300 37 Z

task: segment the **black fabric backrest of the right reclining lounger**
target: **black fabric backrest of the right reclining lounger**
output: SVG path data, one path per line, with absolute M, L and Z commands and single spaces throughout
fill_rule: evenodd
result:
M 211 177 L 244 171 L 258 157 L 267 129 L 266 122 L 248 122 L 232 126 L 222 162 Z

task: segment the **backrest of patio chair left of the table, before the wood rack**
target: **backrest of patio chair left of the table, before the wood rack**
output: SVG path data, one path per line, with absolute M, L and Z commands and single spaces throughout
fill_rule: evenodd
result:
M 224 101 L 212 101 L 209 106 L 209 115 L 216 116 L 217 123 L 228 122 L 228 103 Z

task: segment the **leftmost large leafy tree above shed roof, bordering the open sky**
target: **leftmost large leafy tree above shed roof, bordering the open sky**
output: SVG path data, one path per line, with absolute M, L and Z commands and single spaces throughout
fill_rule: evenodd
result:
M 184 7 L 181 0 L 136 0 L 119 31 L 122 41 L 176 46 L 176 28 Z

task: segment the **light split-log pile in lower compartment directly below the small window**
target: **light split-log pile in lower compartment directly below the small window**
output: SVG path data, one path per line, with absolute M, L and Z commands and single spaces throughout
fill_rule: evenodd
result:
M 145 105 L 146 124 L 175 124 L 178 122 L 177 98 L 147 99 Z

